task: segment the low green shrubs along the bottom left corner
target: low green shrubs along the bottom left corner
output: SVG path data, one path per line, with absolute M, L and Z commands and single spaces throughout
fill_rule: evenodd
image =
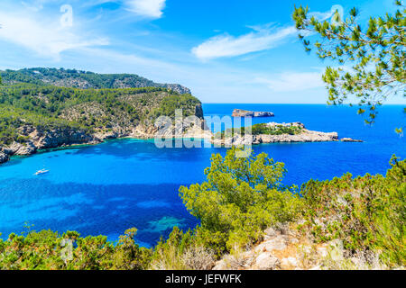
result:
M 135 232 L 125 231 L 115 246 L 106 236 L 80 238 L 75 231 L 11 234 L 7 240 L 0 239 L 0 269 L 144 269 L 152 250 L 134 243 Z

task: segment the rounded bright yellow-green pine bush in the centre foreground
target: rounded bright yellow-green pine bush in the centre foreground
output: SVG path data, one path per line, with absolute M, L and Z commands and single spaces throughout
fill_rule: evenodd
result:
M 281 184 L 283 163 L 265 153 L 237 157 L 238 151 L 213 155 L 207 182 L 180 187 L 186 208 L 201 221 L 198 238 L 217 252 L 250 245 L 267 226 L 295 220 L 301 210 L 297 187 Z

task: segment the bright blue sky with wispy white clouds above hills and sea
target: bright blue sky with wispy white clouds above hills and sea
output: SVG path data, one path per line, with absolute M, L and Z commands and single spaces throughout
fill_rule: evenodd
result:
M 327 17 L 355 5 L 361 22 L 393 11 L 392 0 L 3 0 L 0 68 L 134 73 L 204 103 L 326 103 L 328 63 L 304 52 L 294 4 Z

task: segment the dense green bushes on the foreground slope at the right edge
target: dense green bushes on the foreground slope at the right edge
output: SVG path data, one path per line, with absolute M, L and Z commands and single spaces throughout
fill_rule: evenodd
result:
M 303 184 L 304 218 L 301 229 L 325 242 L 342 239 L 348 256 L 377 252 L 383 262 L 406 265 L 406 160 L 392 157 L 383 175 Z

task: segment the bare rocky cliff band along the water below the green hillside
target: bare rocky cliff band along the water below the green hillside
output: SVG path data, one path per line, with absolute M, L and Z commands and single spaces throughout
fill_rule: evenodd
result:
M 195 108 L 199 115 L 201 106 L 197 105 Z M 169 127 L 165 127 L 168 122 L 160 123 L 160 121 L 155 123 L 145 121 L 128 126 L 121 126 L 120 123 L 117 123 L 115 127 L 99 128 L 97 130 L 70 126 L 46 129 L 41 126 L 24 125 L 18 128 L 19 137 L 25 139 L 22 143 L 14 141 L 10 145 L 0 145 L 0 164 L 8 161 L 13 155 L 32 155 L 37 150 L 46 148 L 98 144 L 105 139 L 126 137 L 142 139 L 155 137 L 163 139 L 176 137 L 211 139 L 213 134 L 208 130 L 206 121 L 199 118 L 198 115 L 193 120 L 185 118 L 178 124 L 173 122 Z

